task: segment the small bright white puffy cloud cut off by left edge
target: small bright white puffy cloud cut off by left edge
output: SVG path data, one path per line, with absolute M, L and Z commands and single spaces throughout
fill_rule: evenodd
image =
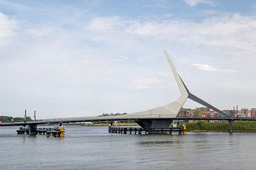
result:
M 18 22 L 0 12 L 0 45 L 6 43 L 6 38 L 14 35 Z

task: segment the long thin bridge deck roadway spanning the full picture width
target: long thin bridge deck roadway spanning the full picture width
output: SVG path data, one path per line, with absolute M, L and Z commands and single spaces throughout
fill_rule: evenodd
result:
M 226 120 L 226 121 L 256 121 L 256 118 L 188 118 L 188 117 L 159 117 L 159 116 L 127 116 L 114 115 L 114 116 L 91 116 L 91 117 L 80 117 L 80 118 L 54 118 L 54 119 L 44 119 L 28 122 L 14 122 L 14 123 L 1 123 L 0 126 L 20 126 L 20 125 L 43 125 L 43 124 L 55 124 L 55 123 L 83 123 L 83 122 L 113 122 L 115 120 L 133 120 L 137 122 L 138 120 Z

